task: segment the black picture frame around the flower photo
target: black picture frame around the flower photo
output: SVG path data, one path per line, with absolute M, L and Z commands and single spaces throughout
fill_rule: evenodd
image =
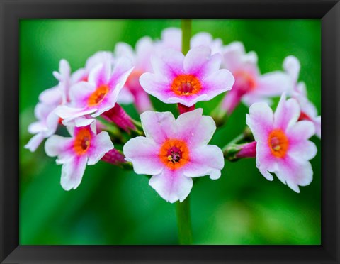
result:
M 339 263 L 340 3 L 311 1 L 0 0 L 1 263 Z M 317 18 L 322 21 L 321 246 L 20 246 L 19 20 Z

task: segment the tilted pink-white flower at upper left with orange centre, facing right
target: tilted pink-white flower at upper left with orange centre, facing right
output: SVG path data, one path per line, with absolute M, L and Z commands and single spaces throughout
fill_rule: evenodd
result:
M 128 58 L 120 58 L 113 72 L 110 63 L 96 66 L 91 70 L 88 82 L 79 82 L 71 87 L 69 106 L 58 107 L 57 115 L 64 119 L 64 123 L 80 117 L 81 121 L 74 121 L 77 126 L 89 125 L 92 118 L 115 106 L 120 90 L 132 70 L 132 62 Z M 90 121 L 84 118 L 87 115 L 90 115 Z

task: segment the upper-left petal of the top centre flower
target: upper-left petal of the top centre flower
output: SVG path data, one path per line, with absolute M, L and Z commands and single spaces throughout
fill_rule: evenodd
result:
M 174 49 L 165 49 L 157 56 L 152 56 L 152 69 L 156 75 L 163 77 L 169 82 L 174 77 L 183 73 L 184 55 Z

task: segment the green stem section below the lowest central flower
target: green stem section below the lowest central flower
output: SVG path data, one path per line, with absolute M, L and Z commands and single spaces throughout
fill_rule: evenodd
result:
M 176 202 L 177 224 L 179 226 L 179 243 L 191 245 L 193 233 L 191 230 L 190 199 L 186 197 L 183 202 Z

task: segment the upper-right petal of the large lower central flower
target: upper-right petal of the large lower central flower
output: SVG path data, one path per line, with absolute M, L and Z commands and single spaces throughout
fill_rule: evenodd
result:
M 175 122 L 176 135 L 186 141 L 189 147 L 207 145 L 216 130 L 211 116 L 202 116 L 203 109 L 181 114 Z

